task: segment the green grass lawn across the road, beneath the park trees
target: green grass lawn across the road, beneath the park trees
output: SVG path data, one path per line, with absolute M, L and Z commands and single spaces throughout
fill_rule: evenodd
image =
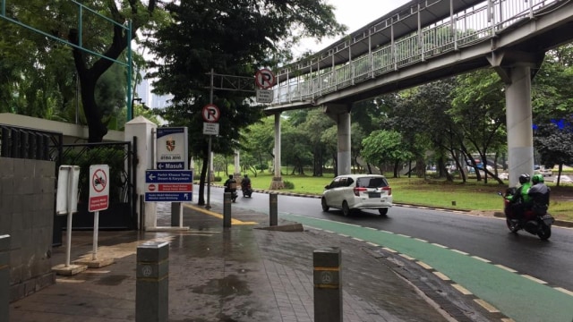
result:
M 273 174 L 249 175 L 252 187 L 269 189 Z M 310 175 L 283 175 L 282 179 L 292 182 L 298 193 L 321 195 L 324 186 L 332 181 L 333 175 L 312 177 Z M 426 180 L 420 178 L 392 178 L 387 175 L 395 203 L 405 203 L 437 208 L 459 210 L 501 211 L 503 200 L 498 191 L 505 191 L 507 186 L 490 180 L 487 184 L 469 179 L 466 183 L 446 182 L 445 180 Z M 573 185 L 563 184 L 552 189 L 550 213 L 560 220 L 573 221 Z

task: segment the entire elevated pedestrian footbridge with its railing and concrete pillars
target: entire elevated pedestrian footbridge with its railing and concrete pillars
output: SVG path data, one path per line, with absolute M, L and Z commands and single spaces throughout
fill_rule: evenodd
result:
M 571 40 L 571 0 L 410 1 L 276 70 L 273 103 L 266 108 L 275 114 L 276 160 L 282 111 L 322 106 L 338 123 L 338 173 L 348 174 L 355 102 L 492 67 L 506 84 L 509 174 L 531 174 L 531 79 L 547 50 Z M 272 187 L 280 185 L 279 169 Z M 514 176 L 510 185 L 517 183 Z

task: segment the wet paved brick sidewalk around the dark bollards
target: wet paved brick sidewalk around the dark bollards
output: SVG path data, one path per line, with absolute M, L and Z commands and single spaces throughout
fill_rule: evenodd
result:
M 312 252 L 323 247 L 342 250 L 346 322 L 488 320 L 446 295 L 448 285 L 380 248 L 308 227 L 261 229 L 268 216 L 241 208 L 233 208 L 232 228 L 223 229 L 222 205 L 211 206 L 184 207 L 184 233 L 99 232 L 98 258 L 115 264 L 57 276 L 55 285 L 11 303 L 10 321 L 134 321 L 135 253 L 147 241 L 170 242 L 170 321 L 312 322 Z M 158 225 L 170 225 L 169 210 L 158 212 Z M 279 218 L 286 224 L 293 223 Z M 72 243 L 72 261 L 91 256 L 92 232 L 74 231 Z M 64 246 L 55 248 L 52 265 L 64 262 Z M 430 300 L 432 293 L 444 300 Z

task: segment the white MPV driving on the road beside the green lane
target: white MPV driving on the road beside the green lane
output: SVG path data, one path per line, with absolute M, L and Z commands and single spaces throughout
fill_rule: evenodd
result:
M 355 209 L 378 209 L 381 216 L 392 207 L 392 189 L 380 174 L 345 174 L 334 178 L 322 192 L 322 210 L 342 209 L 348 216 Z

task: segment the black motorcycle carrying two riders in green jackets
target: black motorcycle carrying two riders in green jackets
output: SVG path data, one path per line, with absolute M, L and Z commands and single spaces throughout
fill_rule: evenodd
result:
M 515 205 L 508 199 L 509 196 L 516 194 L 515 188 L 509 188 L 505 194 L 498 192 L 503 198 L 503 212 L 506 216 L 506 224 L 511 233 L 517 233 L 523 229 L 527 233 L 537 235 L 542 241 L 546 241 L 552 236 L 552 225 L 555 219 L 550 214 L 543 216 L 535 215 L 531 209 L 526 209 L 522 216 L 516 214 Z

